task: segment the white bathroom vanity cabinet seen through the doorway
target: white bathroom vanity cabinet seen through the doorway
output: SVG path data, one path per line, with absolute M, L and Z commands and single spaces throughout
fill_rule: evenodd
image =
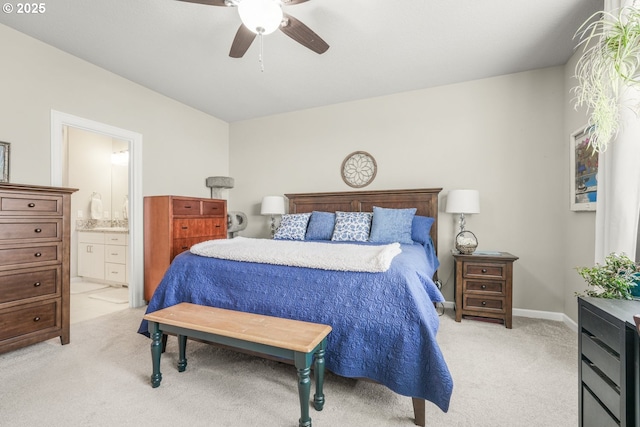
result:
M 127 284 L 128 234 L 78 232 L 78 276 L 101 282 Z

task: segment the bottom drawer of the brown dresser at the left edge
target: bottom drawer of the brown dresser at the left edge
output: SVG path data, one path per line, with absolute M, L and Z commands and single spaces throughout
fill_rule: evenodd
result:
M 59 300 L 24 304 L 0 311 L 0 341 L 60 327 Z

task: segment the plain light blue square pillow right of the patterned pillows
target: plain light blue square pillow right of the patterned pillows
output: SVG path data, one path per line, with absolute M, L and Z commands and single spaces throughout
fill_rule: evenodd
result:
M 411 225 L 416 208 L 388 209 L 373 207 L 370 242 L 412 244 Z

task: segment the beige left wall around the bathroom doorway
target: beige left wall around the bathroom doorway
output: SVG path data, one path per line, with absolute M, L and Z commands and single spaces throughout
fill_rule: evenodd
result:
M 51 182 L 51 110 L 143 137 L 143 192 L 207 197 L 228 173 L 228 124 L 0 25 L 0 141 L 11 181 Z

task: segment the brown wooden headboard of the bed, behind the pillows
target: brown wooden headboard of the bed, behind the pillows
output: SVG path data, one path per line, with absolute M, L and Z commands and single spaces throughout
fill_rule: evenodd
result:
M 285 194 L 289 199 L 289 213 L 373 212 L 381 208 L 416 208 L 416 215 L 435 219 L 431 227 L 434 248 L 438 248 L 438 194 L 442 188 L 411 190 L 343 191 L 335 193 Z

